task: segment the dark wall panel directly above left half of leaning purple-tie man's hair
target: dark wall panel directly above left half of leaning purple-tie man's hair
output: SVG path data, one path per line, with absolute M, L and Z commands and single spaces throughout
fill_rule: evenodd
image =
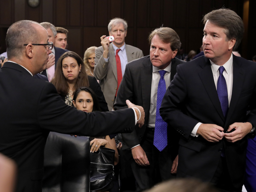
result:
M 150 11 L 149 11 L 149 26 L 150 27 L 160 27 L 161 23 L 161 4 L 162 1 L 158 0 L 149 0 L 150 3 Z

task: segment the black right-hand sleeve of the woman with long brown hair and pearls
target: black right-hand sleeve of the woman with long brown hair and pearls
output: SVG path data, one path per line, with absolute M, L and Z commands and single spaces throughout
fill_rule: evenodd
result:
M 109 111 L 108 103 L 106 102 L 105 97 L 101 91 L 101 86 L 99 86 L 99 83 L 97 82 L 97 80 L 94 77 L 88 76 L 88 78 L 89 78 L 89 82 L 90 82 L 90 88 L 96 94 L 98 101 L 99 101 L 99 106 L 101 107 L 101 110 Z

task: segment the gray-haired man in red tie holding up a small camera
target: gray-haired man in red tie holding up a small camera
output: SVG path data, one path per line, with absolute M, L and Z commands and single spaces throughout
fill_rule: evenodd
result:
M 101 45 L 95 50 L 94 76 L 99 80 L 108 108 L 113 109 L 114 99 L 124 75 L 125 66 L 132 60 L 143 57 L 142 50 L 125 44 L 127 22 L 121 18 L 110 20 L 109 35 L 114 36 L 110 43 L 106 35 L 101 36 Z

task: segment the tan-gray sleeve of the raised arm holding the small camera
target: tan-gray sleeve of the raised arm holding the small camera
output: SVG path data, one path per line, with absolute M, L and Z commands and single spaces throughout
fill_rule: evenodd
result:
M 95 50 L 95 65 L 93 74 L 96 79 L 102 80 L 108 72 L 109 61 L 106 62 L 103 57 L 103 48 L 99 47 Z

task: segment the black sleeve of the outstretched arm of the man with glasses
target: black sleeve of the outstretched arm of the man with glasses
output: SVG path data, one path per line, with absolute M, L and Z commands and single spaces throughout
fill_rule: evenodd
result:
M 133 109 L 116 112 L 82 112 L 66 105 L 57 94 L 54 85 L 50 83 L 44 86 L 38 99 L 37 119 L 42 129 L 85 136 L 131 132 L 135 125 Z

